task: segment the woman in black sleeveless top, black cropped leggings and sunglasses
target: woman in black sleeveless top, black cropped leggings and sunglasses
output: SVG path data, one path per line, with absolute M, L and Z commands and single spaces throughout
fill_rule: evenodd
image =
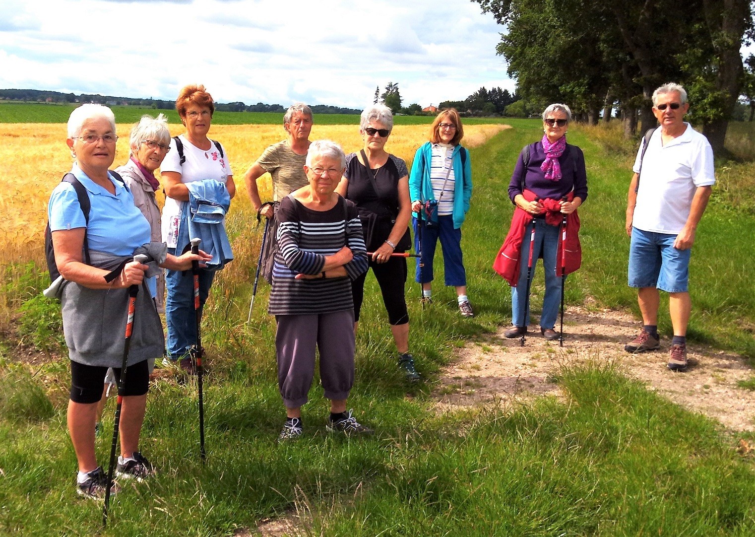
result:
M 399 366 L 409 381 L 418 381 L 420 376 L 414 369 L 414 357 L 409 353 L 409 315 L 404 292 L 406 258 L 391 256 L 411 247 L 408 170 L 402 159 L 385 150 L 392 128 L 393 113 L 387 106 L 373 106 L 362 112 L 359 134 L 365 145 L 359 153 L 346 157 L 344 178 L 336 191 L 356 204 L 367 251 L 372 252 L 369 266 L 380 285 L 393 341 L 399 352 Z M 366 276 L 365 272 L 351 284 L 354 332 L 359 326 Z

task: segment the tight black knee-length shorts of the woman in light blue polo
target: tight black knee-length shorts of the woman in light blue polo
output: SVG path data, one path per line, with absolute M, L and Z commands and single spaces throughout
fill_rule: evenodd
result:
M 121 380 L 121 368 L 114 367 L 116 381 Z M 106 367 L 85 366 L 71 360 L 70 398 L 74 403 L 91 404 L 102 399 L 105 389 Z M 128 366 L 126 384 L 121 395 L 144 395 L 149 390 L 149 366 L 146 360 Z

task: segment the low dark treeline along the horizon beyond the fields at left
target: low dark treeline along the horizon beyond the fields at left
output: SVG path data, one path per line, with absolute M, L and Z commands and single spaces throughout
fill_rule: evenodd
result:
M 60 91 L 31 90 L 31 89 L 6 89 L 0 90 L 0 100 L 22 100 L 37 103 L 100 103 L 108 106 L 146 106 L 155 110 L 173 110 L 176 106 L 172 100 L 162 99 L 134 99 L 131 97 L 112 97 L 100 94 L 73 94 L 61 93 Z M 310 106 L 316 114 L 359 114 L 362 110 L 353 108 L 341 108 L 340 106 L 328 106 L 316 104 Z M 220 112 L 285 112 L 288 106 L 280 104 L 257 103 L 246 105 L 245 103 L 215 103 L 215 110 Z

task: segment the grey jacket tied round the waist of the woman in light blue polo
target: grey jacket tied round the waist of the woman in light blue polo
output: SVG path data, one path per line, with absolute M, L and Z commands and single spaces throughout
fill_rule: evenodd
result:
M 112 270 L 133 258 L 94 250 L 89 253 L 92 266 L 104 270 Z M 146 254 L 153 258 L 154 261 L 148 263 L 153 267 L 150 267 L 147 275 L 157 270 L 157 264 L 165 261 L 165 253 L 166 246 L 162 242 L 149 242 L 134 250 L 134 255 Z M 56 286 L 55 283 L 45 290 L 45 296 L 49 296 L 47 293 Z M 89 289 L 63 280 L 58 283 L 57 292 L 69 358 L 87 366 L 121 367 L 128 317 L 128 289 Z M 128 365 L 161 356 L 164 348 L 162 324 L 145 280 L 137 293 Z

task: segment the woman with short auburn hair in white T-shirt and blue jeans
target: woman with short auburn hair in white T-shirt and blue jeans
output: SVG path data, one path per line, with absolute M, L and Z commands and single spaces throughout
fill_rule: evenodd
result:
M 217 202 L 217 205 L 230 205 L 230 199 L 236 194 L 236 184 L 233 183 L 233 171 L 223 146 L 207 136 L 215 105 L 211 95 L 205 91 L 205 86 L 187 85 L 182 88 L 176 99 L 176 110 L 186 132 L 171 140 L 171 150 L 165 157 L 160 172 L 165 182 L 162 239 L 168 244 L 168 252 L 180 254 L 180 250 L 193 238 L 181 233 L 185 227 L 189 227 L 184 209 L 190 205 L 190 196 L 194 192 L 194 185 L 191 184 L 196 181 L 202 181 L 203 184 L 214 181 L 208 188 L 220 184 L 220 188 L 227 193 L 220 193 L 222 199 L 209 200 Z M 223 249 L 222 245 L 214 247 Z M 205 242 L 202 243 L 202 248 L 211 251 L 211 246 Z M 228 249 L 230 251 L 230 247 Z M 214 259 L 213 264 L 215 261 L 217 260 Z M 222 261 L 219 267 L 222 267 Z M 214 275 L 215 271 L 210 268 L 199 271 L 200 316 Z M 168 270 L 165 280 L 168 287 L 168 298 L 165 301 L 168 358 L 173 362 L 180 360 L 180 368 L 193 374 L 196 372 L 196 365 L 191 353 L 197 336 L 193 281 L 175 270 Z

